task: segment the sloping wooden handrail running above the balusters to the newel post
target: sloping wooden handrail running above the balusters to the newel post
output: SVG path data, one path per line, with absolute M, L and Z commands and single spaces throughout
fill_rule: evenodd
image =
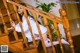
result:
M 13 1 L 10 1 L 10 0 L 7 0 L 7 2 L 9 2 L 9 3 L 11 3 L 11 4 L 14 4 L 14 5 L 16 5 L 16 6 L 21 6 L 22 8 L 25 8 L 26 10 L 28 10 L 28 11 L 30 11 L 30 12 L 34 12 L 34 13 L 38 13 L 39 15 L 41 15 L 41 16 L 45 16 L 46 18 L 48 18 L 48 19 L 50 19 L 50 20 L 53 20 L 53 21 L 56 21 L 57 23 L 61 23 L 61 24 L 63 24 L 63 22 L 62 22 L 62 20 L 60 19 L 60 18 L 56 18 L 57 16 L 54 16 L 54 15 L 52 15 L 52 14 L 49 14 L 49 13 L 46 13 L 46 12 L 39 12 L 38 10 L 32 10 L 31 8 L 27 8 L 27 7 L 25 7 L 25 6 L 23 6 L 23 5 L 20 5 L 20 4 L 18 4 L 18 3 L 15 3 L 15 2 L 13 2 Z M 41 11 L 41 10 L 40 10 Z

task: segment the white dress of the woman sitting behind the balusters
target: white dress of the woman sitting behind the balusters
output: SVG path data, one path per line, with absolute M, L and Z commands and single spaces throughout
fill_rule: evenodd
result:
M 30 16 L 28 16 L 28 19 L 30 21 L 30 25 L 31 25 L 31 28 L 32 28 L 33 35 L 34 34 L 39 34 L 35 20 L 33 18 L 31 18 Z M 44 34 L 47 31 L 47 29 L 44 26 L 40 25 L 40 24 L 39 24 L 39 26 L 40 26 L 41 33 Z M 23 27 L 23 30 L 24 30 L 24 33 L 25 33 L 26 37 L 28 38 L 28 42 L 31 42 L 32 41 L 32 37 L 31 37 L 31 33 L 29 31 L 26 19 L 23 19 L 22 27 Z M 15 26 L 15 30 L 17 32 L 21 32 L 21 28 L 19 26 L 19 23 Z

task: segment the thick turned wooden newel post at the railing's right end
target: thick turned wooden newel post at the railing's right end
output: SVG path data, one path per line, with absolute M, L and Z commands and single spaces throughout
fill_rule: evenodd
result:
M 67 14 L 64 10 L 60 10 L 60 14 L 63 18 L 63 21 L 64 21 L 64 28 L 65 28 L 65 31 L 66 31 L 66 34 L 67 34 L 67 39 L 68 39 L 68 42 L 70 44 L 70 48 L 71 48 L 71 51 L 74 53 L 74 46 L 73 46 L 73 41 L 72 41 L 72 38 L 71 38 L 71 33 L 70 33 L 70 26 L 69 26 L 69 21 L 67 19 Z

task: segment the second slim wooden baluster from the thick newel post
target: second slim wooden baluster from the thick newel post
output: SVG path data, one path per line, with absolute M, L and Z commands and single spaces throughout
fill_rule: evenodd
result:
M 51 45 L 52 45 L 52 51 L 53 51 L 53 53 L 56 53 L 56 50 L 55 50 L 55 48 L 54 48 L 54 43 L 53 43 L 53 41 L 52 41 L 52 35 L 51 35 L 51 33 L 50 33 L 51 31 L 50 31 L 50 29 L 49 29 L 49 27 L 48 27 L 47 18 L 43 17 L 43 20 L 44 20 L 44 25 L 46 26 L 47 31 L 48 31 L 48 35 L 49 35 L 50 42 L 51 42 Z

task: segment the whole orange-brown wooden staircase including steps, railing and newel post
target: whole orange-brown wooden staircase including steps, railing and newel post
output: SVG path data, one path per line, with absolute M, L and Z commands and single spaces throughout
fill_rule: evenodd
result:
M 54 26 L 55 26 L 54 28 L 56 29 L 56 32 L 58 35 L 58 41 L 60 43 L 61 52 L 64 53 L 63 46 L 62 46 L 61 39 L 60 39 L 60 33 L 59 33 L 59 29 L 58 29 L 59 23 L 64 26 L 65 32 L 68 37 L 67 38 L 68 42 L 70 43 L 71 51 L 74 52 L 74 47 L 72 44 L 71 34 L 70 34 L 70 30 L 69 30 L 69 23 L 68 23 L 65 11 L 61 10 L 60 11 L 61 17 L 58 18 L 55 15 L 45 13 L 39 9 L 38 9 L 38 11 L 36 11 L 37 9 L 32 6 L 28 6 L 28 8 L 26 8 L 26 7 L 16 3 L 16 1 L 19 1 L 19 0 L 14 0 L 14 1 L 15 2 L 13 2 L 11 0 L 10 1 L 9 0 L 8 1 L 0 0 L 0 45 L 8 45 L 9 51 L 11 51 L 13 53 L 39 53 L 38 49 L 40 47 L 40 44 L 42 43 L 41 49 L 42 49 L 43 53 L 56 53 L 54 44 L 52 44 L 52 39 L 50 36 L 51 31 L 49 30 L 49 28 L 47 26 L 47 21 L 46 21 L 46 19 L 50 19 L 54 22 Z M 18 37 L 18 34 L 16 33 L 15 30 L 8 30 L 8 28 L 11 27 L 12 21 L 15 21 L 15 24 L 18 23 L 18 21 L 19 21 L 19 19 L 17 19 L 18 13 L 15 8 L 15 6 L 18 6 L 18 5 L 20 5 L 21 7 L 24 8 L 24 14 L 26 17 L 27 17 L 27 15 L 26 15 L 25 10 L 31 11 L 33 13 L 34 19 L 36 20 L 36 23 L 38 21 L 36 18 L 36 15 L 39 14 L 39 15 L 43 16 L 43 20 L 45 21 L 44 24 L 45 24 L 46 28 L 48 29 L 48 35 L 49 35 L 49 38 L 50 38 L 50 41 L 52 44 L 52 47 L 50 47 L 52 49 L 52 51 L 47 52 L 48 49 L 44 45 L 44 41 L 42 38 L 42 34 L 39 30 L 38 23 L 37 23 L 37 28 L 39 30 L 41 41 L 40 40 L 35 41 L 33 38 L 33 42 L 28 43 L 23 30 L 22 30 L 21 37 Z M 29 27 L 30 27 L 30 25 L 29 25 Z M 31 32 L 31 29 L 30 29 L 30 32 Z M 32 37 L 33 37 L 33 35 L 32 35 Z

